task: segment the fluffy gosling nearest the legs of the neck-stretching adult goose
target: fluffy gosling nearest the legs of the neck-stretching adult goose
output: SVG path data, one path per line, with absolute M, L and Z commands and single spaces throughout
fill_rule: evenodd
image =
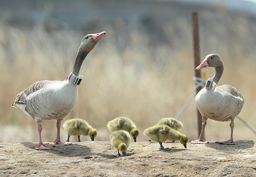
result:
M 78 142 L 81 142 L 80 135 L 89 135 L 92 141 L 94 141 L 94 138 L 97 136 L 96 129 L 92 128 L 92 126 L 83 119 L 75 118 L 67 120 L 63 123 L 62 127 L 68 133 L 67 142 L 69 142 L 70 136 L 78 136 Z

